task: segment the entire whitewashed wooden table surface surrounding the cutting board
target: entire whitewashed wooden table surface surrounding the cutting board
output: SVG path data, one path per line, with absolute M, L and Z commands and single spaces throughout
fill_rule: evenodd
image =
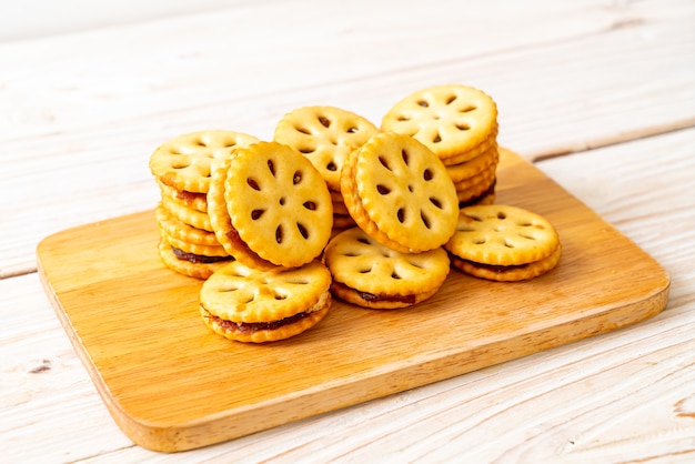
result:
M 0 461 L 695 461 L 695 2 L 211 3 L 0 41 Z M 43 292 L 39 241 L 153 209 L 148 159 L 173 135 L 269 139 L 308 104 L 379 122 L 451 82 L 664 266 L 665 311 L 204 448 L 135 445 Z

